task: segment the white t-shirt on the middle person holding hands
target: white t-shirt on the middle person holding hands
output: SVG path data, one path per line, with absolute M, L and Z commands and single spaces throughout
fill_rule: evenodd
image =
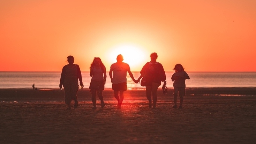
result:
M 130 70 L 130 66 L 127 63 L 113 63 L 110 66 L 110 71 L 113 70 L 113 84 L 126 83 L 127 71 Z

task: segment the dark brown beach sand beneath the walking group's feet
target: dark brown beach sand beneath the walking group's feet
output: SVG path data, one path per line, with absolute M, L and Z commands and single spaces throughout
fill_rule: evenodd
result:
M 66 110 L 64 91 L 0 89 L 0 143 L 255 143 L 256 88 L 189 88 L 183 109 L 172 108 L 172 93 L 159 89 L 150 109 L 145 90 L 127 90 L 120 110 L 104 90 L 106 106 L 97 98 L 92 109 L 90 91 L 80 89 L 78 108 Z

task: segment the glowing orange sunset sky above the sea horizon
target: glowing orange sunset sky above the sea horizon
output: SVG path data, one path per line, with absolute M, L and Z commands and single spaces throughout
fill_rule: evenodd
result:
M 61 71 L 73 55 L 107 70 L 117 53 L 140 71 L 256 71 L 255 0 L 1 0 L 0 71 Z M 134 60 L 134 61 L 133 61 Z

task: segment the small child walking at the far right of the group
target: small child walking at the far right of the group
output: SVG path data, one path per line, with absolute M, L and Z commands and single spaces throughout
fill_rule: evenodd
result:
M 173 82 L 173 100 L 174 100 L 174 106 L 173 108 L 177 108 L 177 96 L 179 92 L 179 97 L 180 97 L 180 106 L 179 108 L 182 108 L 182 103 L 183 103 L 183 98 L 185 96 L 185 80 L 190 79 L 186 71 L 184 71 L 184 68 L 181 64 L 176 64 L 175 67 L 173 68 L 175 73 L 172 75 L 172 81 Z

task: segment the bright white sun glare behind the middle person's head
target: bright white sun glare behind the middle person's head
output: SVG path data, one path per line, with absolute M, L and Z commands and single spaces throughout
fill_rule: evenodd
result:
M 123 55 L 123 62 L 128 63 L 131 70 L 142 68 L 145 63 L 146 52 L 141 47 L 135 45 L 118 45 L 112 48 L 108 54 L 111 63 L 116 62 L 117 55 Z

